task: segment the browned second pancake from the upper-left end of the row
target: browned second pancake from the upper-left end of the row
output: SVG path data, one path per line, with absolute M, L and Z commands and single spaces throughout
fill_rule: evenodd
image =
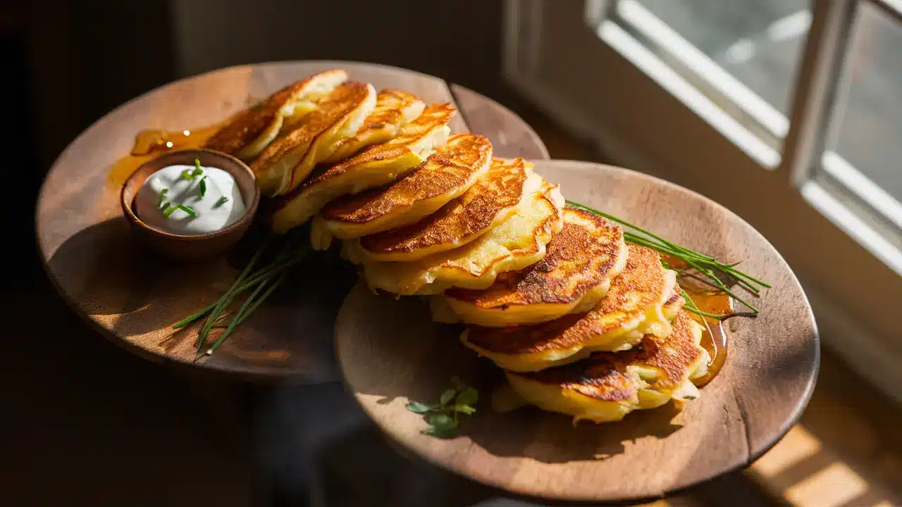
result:
M 352 115 L 355 110 L 375 101 L 375 90 L 368 83 L 347 81 L 339 85 L 288 134 L 281 135 L 251 164 L 257 184 L 267 195 L 281 195 L 307 175 L 296 174 L 296 166 L 307 156 L 308 150 L 336 124 Z M 368 113 L 369 111 L 366 111 Z M 364 113 L 365 115 L 365 113 Z M 363 118 L 362 118 L 363 119 Z M 354 126 L 354 131 L 358 127 Z

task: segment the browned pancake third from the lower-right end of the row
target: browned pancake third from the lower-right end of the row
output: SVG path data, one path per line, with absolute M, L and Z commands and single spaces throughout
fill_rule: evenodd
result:
M 620 226 L 582 209 L 564 210 L 564 228 L 552 236 L 545 258 L 506 272 L 485 290 L 449 289 L 433 300 L 439 322 L 501 327 L 548 322 L 594 309 L 623 271 L 627 246 Z M 446 306 L 453 319 L 443 318 Z

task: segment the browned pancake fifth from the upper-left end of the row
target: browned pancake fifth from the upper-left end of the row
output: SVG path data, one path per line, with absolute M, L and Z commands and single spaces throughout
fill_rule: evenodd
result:
M 452 135 L 445 146 L 400 180 L 336 198 L 323 207 L 313 221 L 313 247 L 325 250 L 332 236 L 350 239 L 417 222 L 472 187 L 491 161 L 488 138 Z

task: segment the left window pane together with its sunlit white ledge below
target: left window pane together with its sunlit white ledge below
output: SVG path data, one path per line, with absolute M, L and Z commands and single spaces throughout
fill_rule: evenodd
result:
M 596 9 L 602 39 L 630 58 L 631 37 L 738 123 L 704 119 L 762 164 L 779 162 L 805 34 L 808 0 L 620 0 Z M 623 33 L 620 33 L 622 31 Z M 666 79 L 658 79 L 667 87 Z M 732 128 L 731 128 L 732 127 Z M 737 134 L 737 129 L 745 132 Z M 767 148 L 755 146 L 755 135 Z

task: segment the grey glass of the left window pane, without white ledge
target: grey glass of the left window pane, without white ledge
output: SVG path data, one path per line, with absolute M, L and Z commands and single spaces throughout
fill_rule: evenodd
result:
M 784 116 L 802 43 L 808 0 L 640 0 L 649 11 Z

